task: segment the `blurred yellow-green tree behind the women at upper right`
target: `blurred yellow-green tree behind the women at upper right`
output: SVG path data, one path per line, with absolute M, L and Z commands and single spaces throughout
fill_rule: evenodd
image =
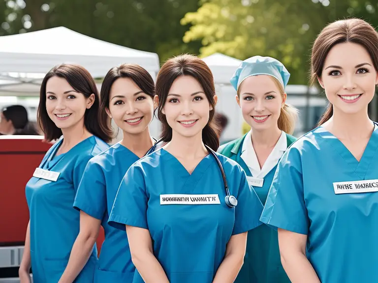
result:
M 365 18 L 373 25 L 378 21 L 378 1 L 361 2 L 203 0 L 196 12 L 181 20 L 192 25 L 183 39 L 201 40 L 201 56 L 221 52 L 240 59 L 276 57 L 292 74 L 291 84 L 307 84 L 311 46 L 321 28 L 348 16 Z

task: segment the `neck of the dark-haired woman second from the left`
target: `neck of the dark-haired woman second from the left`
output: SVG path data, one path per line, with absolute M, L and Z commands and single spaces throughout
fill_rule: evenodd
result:
M 149 128 L 139 134 L 129 134 L 125 131 L 123 131 L 123 133 L 124 138 L 121 144 L 138 157 L 143 157 L 146 152 L 154 145 L 155 141 L 151 139 Z

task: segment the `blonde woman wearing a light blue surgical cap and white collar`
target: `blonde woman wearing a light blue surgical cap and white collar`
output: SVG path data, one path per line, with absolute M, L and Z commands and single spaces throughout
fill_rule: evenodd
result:
M 297 110 L 285 104 L 284 88 L 289 77 L 277 59 L 254 56 L 244 60 L 230 80 L 251 130 L 218 151 L 242 166 L 263 204 L 278 161 L 296 140 L 290 134 L 294 131 Z M 248 232 L 244 264 L 235 282 L 290 282 L 281 264 L 276 229 L 261 225 Z

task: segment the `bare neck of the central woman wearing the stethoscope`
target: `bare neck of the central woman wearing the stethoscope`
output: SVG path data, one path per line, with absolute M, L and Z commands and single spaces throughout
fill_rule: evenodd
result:
M 202 131 L 193 137 L 184 137 L 178 133 L 172 133 L 172 140 L 164 146 L 172 155 L 183 159 L 196 159 L 204 157 L 208 151 L 202 142 Z

